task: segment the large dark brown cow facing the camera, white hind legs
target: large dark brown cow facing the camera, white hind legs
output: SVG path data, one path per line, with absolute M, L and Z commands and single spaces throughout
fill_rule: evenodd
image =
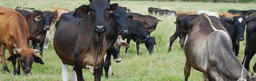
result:
M 110 0 L 89 0 L 73 12 L 73 16 L 62 14 L 56 22 L 54 49 L 62 61 L 62 77 L 68 80 L 67 65 L 73 67 L 73 80 L 83 81 L 82 68 L 94 73 L 99 81 L 103 69 L 103 59 L 107 50 L 104 32 L 107 31 L 109 11 L 117 9 L 118 4 Z

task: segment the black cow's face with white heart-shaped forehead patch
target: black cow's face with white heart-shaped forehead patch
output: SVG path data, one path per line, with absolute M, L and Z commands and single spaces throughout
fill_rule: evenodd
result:
M 246 18 L 242 16 L 235 16 L 233 17 L 234 24 L 235 24 L 235 30 L 238 32 L 238 40 L 243 41 L 244 40 L 244 30 L 246 25 Z

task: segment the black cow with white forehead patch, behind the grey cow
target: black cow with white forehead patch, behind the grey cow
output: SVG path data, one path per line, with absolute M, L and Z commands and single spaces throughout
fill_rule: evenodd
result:
M 222 25 L 227 29 L 233 45 L 233 50 L 236 57 L 239 53 L 239 42 L 244 40 L 244 30 L 246 25 L 246 18 L 243 16 L 235 16 L 231 18 L 220 19 Z

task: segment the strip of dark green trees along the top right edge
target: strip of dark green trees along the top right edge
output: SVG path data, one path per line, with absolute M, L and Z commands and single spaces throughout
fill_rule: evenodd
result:
M 132 1 L 132 0 L 131 0 Z M 184 2 L 214 2 L 214 3 L 256 3 L 256 0 L 134 0 L 134 1 L 184 1 Z

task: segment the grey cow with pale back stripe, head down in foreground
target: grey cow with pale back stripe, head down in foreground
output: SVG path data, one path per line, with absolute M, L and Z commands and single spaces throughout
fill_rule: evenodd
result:
M 234 55 L 228 31 L 216 17 L 202 14 L 191 21 L 185 55 L 185 81 L 191 67 L 203 72 L 205 80 L 209 81 L 256 80 Z

